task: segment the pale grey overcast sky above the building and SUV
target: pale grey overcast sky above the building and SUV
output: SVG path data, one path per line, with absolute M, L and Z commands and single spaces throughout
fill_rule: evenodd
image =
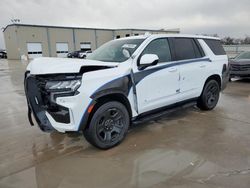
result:
M 0 27 L 12 18 L 24 24 L 180 28 L 181 33 L 245 37 L 250 35 L 250 0 L 1 0 Z

